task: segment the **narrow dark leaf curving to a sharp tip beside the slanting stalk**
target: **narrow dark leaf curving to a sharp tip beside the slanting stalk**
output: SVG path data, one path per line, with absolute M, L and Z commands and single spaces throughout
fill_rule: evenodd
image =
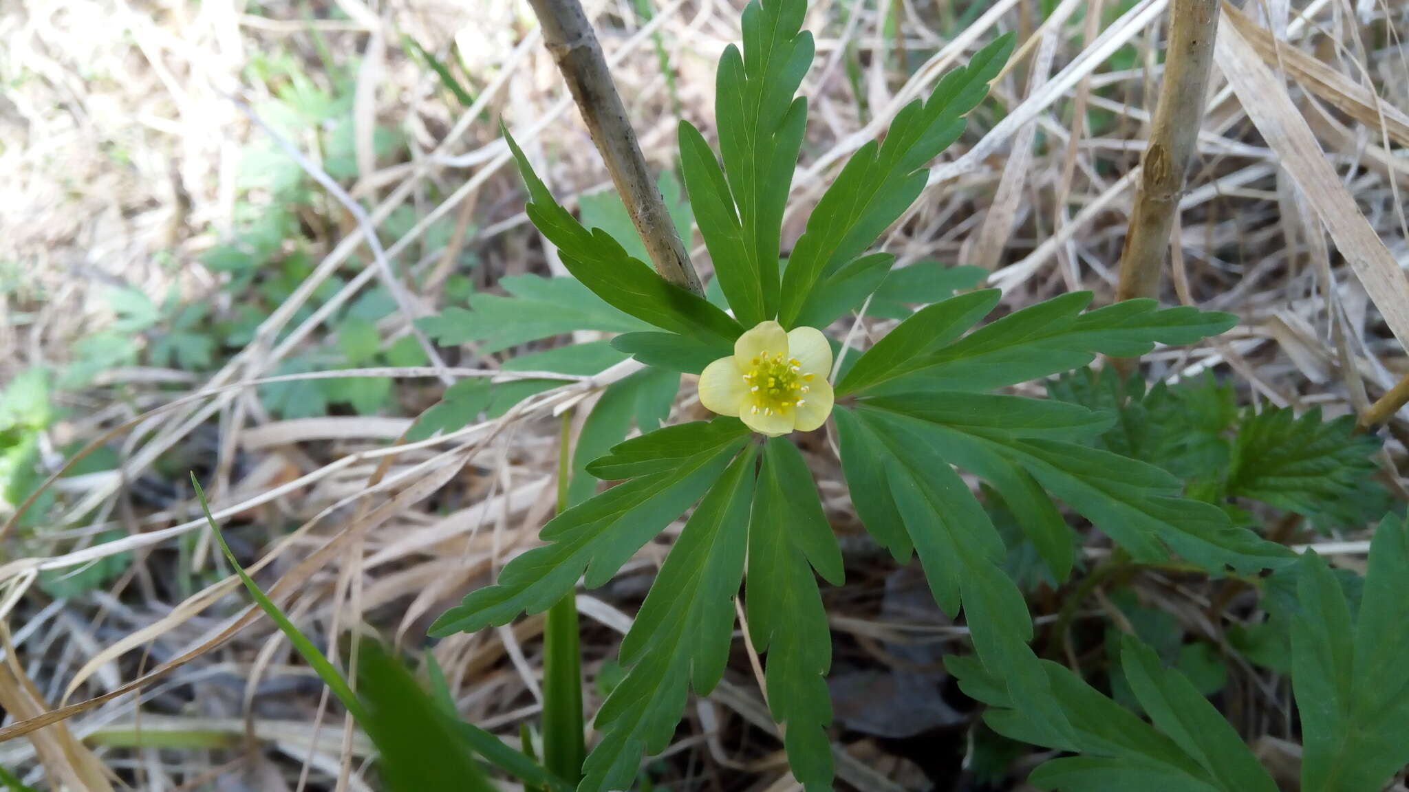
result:
M 665 280 L 644 262 L 631 258 L 612 234 L 600 228 L 583 228 L 552 199 L 507 130 L 504 141 L 528 186 L 528 220 L 548 241 L 558 245 L 564 266 L 588 289 L 619 310 L 661 330 L 706 342 L 731 342 L 744 331 L 733 317 L 703 297 Z

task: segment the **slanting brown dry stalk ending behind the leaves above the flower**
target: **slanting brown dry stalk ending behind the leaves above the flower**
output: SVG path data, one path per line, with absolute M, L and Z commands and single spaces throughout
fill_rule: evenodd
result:
M 592 142 L 606 161 L 612 183 L 616 185 L 635 231 L 645 242 L 651 264 L 661 278 L 703 295 L 700 278 L 665 210 L 661 190 L 657 189 L 655 179 L 645 166 L 635 130 L 626 117 L 626 107 L 612 82 L 612 72 L 607 70 L 607 62 L 602 56 L 602 45 L 592 32 L 582 3 L 530 0 L 530 6 L 538 16 L 538 24 L 542 25 L 542 41 L 548 52 L 552 52 L 552 59 L 578 103 L 582 120 L 588 124 Z

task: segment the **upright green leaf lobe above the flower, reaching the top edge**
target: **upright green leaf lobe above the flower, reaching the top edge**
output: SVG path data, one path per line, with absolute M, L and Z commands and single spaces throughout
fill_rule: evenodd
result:
M 721 259 L 713 248 L 710 255 L 721 276 L 723 272 L 738 273 L 734 282 L 741 286 L 735 292 L 747 296 L 741 304 L 733 304 L 734 293 L 726 293 L 740 318 L 752 316 L 755 293 L 762 299 L 761 318 L 778 313 L 776 262 L 783 209 L 807 123 L 807 100 L 793 99 L 813 56 L 812 34 L 802 30 L 806 11 L 805 0 L 768 0 L 766 4 L 751 0 L 743 14 L 743 54 L 730 44 L 719 59 L 714 117 L 724 173 L 738 207 L 744 258 Z M 706 152 L 700 152 L 697 144 L 683 145 L 682 140 L 682 154 L 704 165 Z M 713 176 L 709 179 L 717 190 Z M 700 179 L 692 182 L 686 176 L 686 182 L 693 196 L 693 185 Z M 702 234 L 704 225 L 700 224 Z M 717 230 L 727 234 L 724 228 Z M 728 283 L 721 282 L 721 286 Z

